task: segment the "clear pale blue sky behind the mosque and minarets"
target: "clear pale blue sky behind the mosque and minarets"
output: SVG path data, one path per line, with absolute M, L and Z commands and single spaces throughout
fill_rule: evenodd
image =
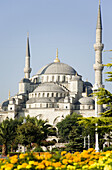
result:
M 101 0 L 103 43 L 112 49 L 112 0 Z M 27 32 L 31 47 L 31 76 L 53 62 L 56 48 L 61 62 L 94 84 L 94 48 L 98 0 L 0 1 L 0 102 L 18 93 L 24 77 Z M 103 63 L 112 53 L 103 52 Z M 104 72 L 106 69 L 104 70 Z M 111 90 L 111 83 L 103 84 Z

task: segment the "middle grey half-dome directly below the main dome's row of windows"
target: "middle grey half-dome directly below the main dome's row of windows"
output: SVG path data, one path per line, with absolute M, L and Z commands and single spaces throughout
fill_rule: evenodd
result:
M 42 83 L 34 90 L 35 92 L 64 92 L 64 90 L 55 83 Z

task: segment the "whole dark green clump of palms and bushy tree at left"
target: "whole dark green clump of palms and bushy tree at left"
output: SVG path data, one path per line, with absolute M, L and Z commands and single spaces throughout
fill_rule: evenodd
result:
M 24 121 L 25 120 L 25 121 Z M 56 129 L 55 129 L 56 130 Z M 6 119 L 0 124 L 0 143 L 2 144 L 2 153 L 6 155 L 8 149 L 17 149 L 18 143 L 22 145 L 29 145 L 35 142 L 40 145 L 42 140 L 45 140 L 49 133 L 54 133 L 47 121 L 37 120 L 36 117 L 20 119 Z

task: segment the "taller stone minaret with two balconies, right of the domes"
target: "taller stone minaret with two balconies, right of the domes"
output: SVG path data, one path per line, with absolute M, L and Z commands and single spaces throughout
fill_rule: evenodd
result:
M 101 20 L 101 7 L 100 7 L 100 0 L 99 0 L 99 10 L 98 10 L 98 18 L 97 18 L 97 26 L 96 26 L 96 43 L 94 44 L 95 49 L 95 84 L 98 87 L 102 87 L 102 50 L 104 45 L 102 44 L 102 20 Z

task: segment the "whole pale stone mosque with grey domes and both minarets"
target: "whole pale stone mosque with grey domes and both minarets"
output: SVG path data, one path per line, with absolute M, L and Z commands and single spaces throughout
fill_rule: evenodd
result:
M 95 49 L 95 85 L 102 85 L 102 21 L 101 5 L 99 3 L 96 25 Z M 71 66 L 61 63 L 56 51 L 53 62 L 43 66 L 33 77 L 30 77 L 30 45 L 27 36 L 24 78 L 19 82 L 19 92 L 3 101 L 0 105 L 0 121 L 6 118 L 19 118 L 20 116 L 37 117 L 48 120 L 56 125 L 66 115 L 73 112 L 84 117 L 95 116 L 95 101 L 91 96 L 95 85 L 83 81 L 82 76 Z M 98 112 L 102 111 L 98 107 Z

